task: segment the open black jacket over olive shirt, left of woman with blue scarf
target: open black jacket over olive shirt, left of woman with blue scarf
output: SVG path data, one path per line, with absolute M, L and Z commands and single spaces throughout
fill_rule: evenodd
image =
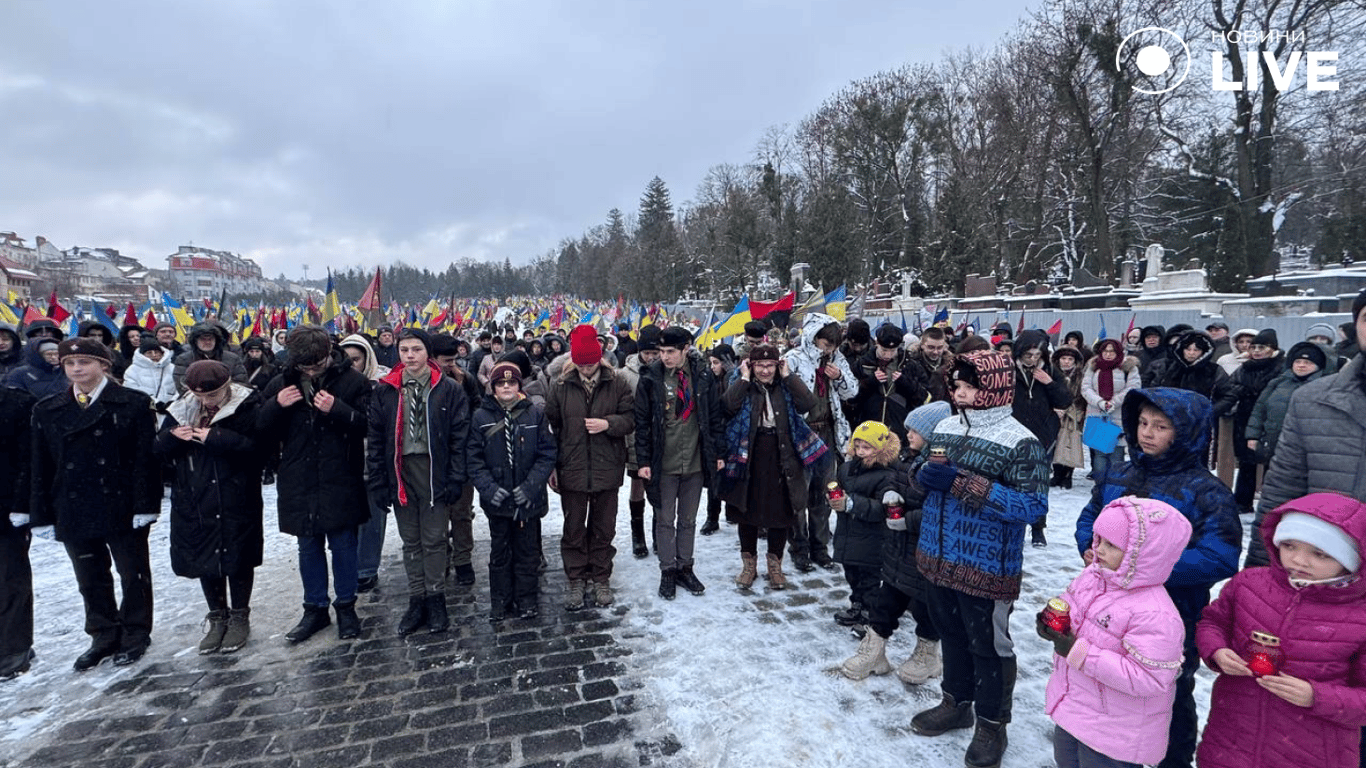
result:
M 697 426 L 702 437 L 702 481 L 716 488 L 716 462 L 725 458 L 725 415 L 721 411 L 721 384 L 712 366 L 697 353 L 688 353 L 684 365 L 693 380 L 697 403 Z M 799 411 L 802 409 L 798 409 Z M 635 462 L 650 467 L 645 495 L 660 506 L 660 467 L 664 465 L 664 362 L 654 361 L 641 369 L 635 387 Z

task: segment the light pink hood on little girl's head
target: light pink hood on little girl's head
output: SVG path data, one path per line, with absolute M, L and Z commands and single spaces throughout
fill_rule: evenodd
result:
M 1105 504 L 1091 530 L 1126 533 L 1119 568 L 1087 566 L 1120 589 L 1165 584 L 1191 538 L 1191 523 L 1186 515 L 1165 502 L 1138 496 L 1123 496 Z M 1091 547 L 1100 543 L 1100 537 L 1101 533 L 1093 536 Z M 1113 534 L 1106 538 L 1115 541 Z

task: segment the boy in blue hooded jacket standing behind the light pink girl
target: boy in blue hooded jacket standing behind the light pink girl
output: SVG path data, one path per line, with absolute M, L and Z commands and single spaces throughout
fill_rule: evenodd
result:
M 1191 523 L 1190 544 L 1167 579 L 1167 593 L 1186 625 L 1186 657 L 1176 678 L 1176 702 L 1164 768 L 1190 765 L 1195 754 L 1195 623 L 1209 604 L 1209 590 L 1238 571 L 1243 526 L 1227 485 L 1205 469 L 1210 420 L 1209 398 L 1186 389 L 1135 389 L 1121 406 L 1128 462 L 1111 467 L 1076 518 L 1076 547 L 1091 562 L 1091 525 L 1105 504 L 1120 496 L 1167 502 Z

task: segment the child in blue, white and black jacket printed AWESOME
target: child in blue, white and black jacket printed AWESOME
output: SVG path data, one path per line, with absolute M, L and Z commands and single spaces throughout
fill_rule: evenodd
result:
M 911 730 L 937 737 L 975 719 L 970 767 L 999 765 L 1005 753 L 1016 671 L 1007 618 L 1020 592 L 1024 526 L 1048 511 L 1052 467 L 1011 414 L 1015 376 L 1007 354 L 959 355 L 959 417 L 940 421 L 929 441 L 930 455 L 943 448 L 947 461 L 925 462 L 914 478 L 926 493 L 915 563 L 943 638 L 944 700 L 915 715 Z

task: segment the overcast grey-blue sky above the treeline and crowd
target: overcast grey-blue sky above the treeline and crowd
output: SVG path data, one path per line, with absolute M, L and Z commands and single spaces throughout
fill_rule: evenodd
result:
M 675 204 L 847 82 L 1023 0 L 4 0 L 0 231 L 268 276 L 526 262 Z

